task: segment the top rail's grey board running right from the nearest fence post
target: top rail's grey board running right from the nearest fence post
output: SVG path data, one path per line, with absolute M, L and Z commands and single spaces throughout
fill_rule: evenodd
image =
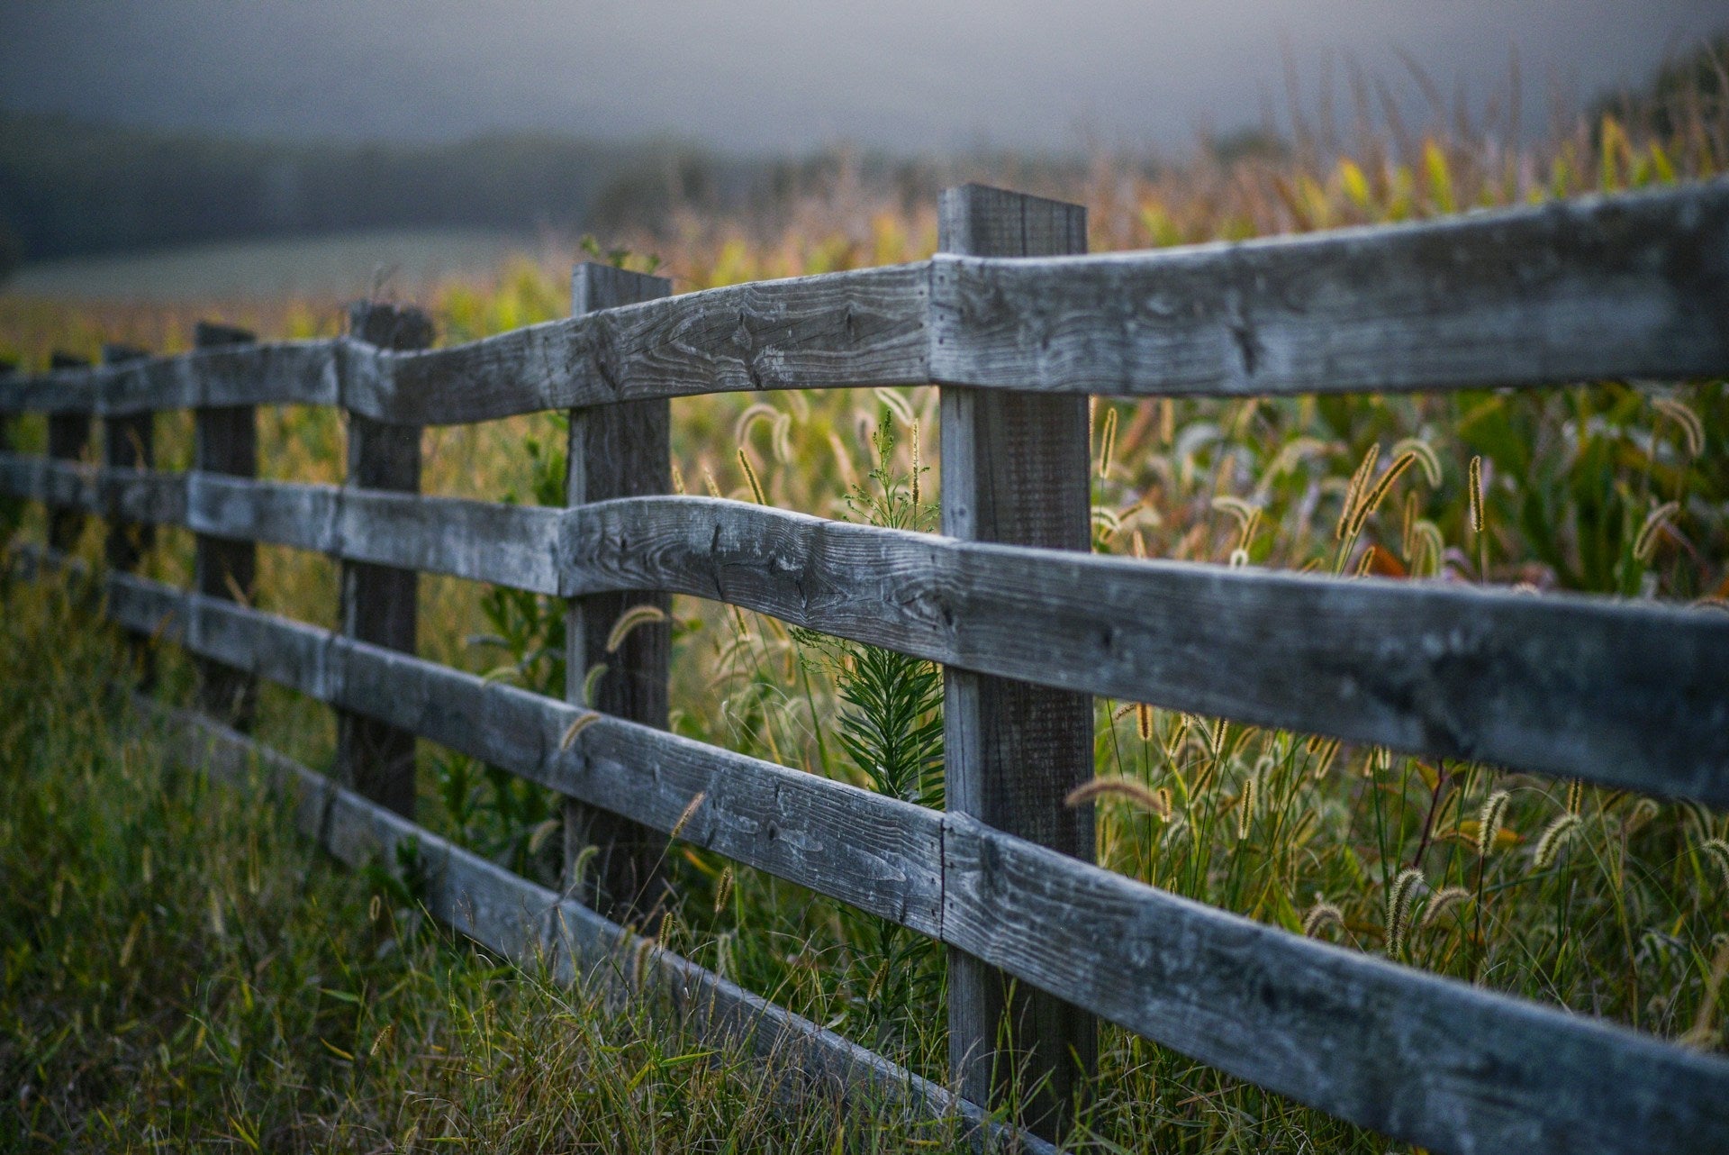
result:
M 939 254 L 939 382 L 1115 396 L 1729 372 L 1729 182 L 1043 261 Z

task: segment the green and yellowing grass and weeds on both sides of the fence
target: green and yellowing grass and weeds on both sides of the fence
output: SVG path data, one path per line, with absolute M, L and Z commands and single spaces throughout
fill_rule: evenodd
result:
M 1039 192 L 1084 201 L 1094 249 L 1113 249 L 1715 176 L 1729 163 L 1729 109 L 1698 92 L 1675 100 L 1667 119 L 1580 123 L 1534 147 L 1451 121 L 1343 140 L 1316 126 L 1278 154 L 1202 157 L 1157 178 L 1101 159 L 1084 187 Z M 692 218 L 622 244 L 614 259 L 645 266 L 652 251 L 683 290 L 916 259 L 935 227 L 928 209 L 840 182 L 773 228 Z M 444 341 L 465 341 L 560 315 L 564 277 L 562 265 L 524 261 L 444 282 L 422 303 Z M 334 301 L 204 311 L 265 335 L 332 334 L 341 315 Z M 40 363 L 50 346 L 93 349 L 100 339 L 185 348 L 197 316 L 192 306 L 3 297 L 0 351 Z M 676 401 L 678 484 L 930 526 L 934 410 L 934 391 Z M 188 424 L 163 425 L 164 463 L 185 465 Z M 40 424 L 21 424 L 17 437 L 40 448 Z M 265 413 L 261 437 L 270 475 L 337 479 L 332 415 Z M 1100 401 L 1094 546 L 1720 612 L 1726 437 L 1722 380 Z M 555 501 L 558 446 L 552 415 L 431 431 L 425 488 Z M 40 533 L 38 514 L 26 522 L 26 534 Z M 185 536 L 169 534 L 150 564 L 183 578 L 187 558 Z M 64 602 L 7 597 L 0 918 L 16 946 L 5 954 L 0 1082 L 26 1088 L 14 1141 L 105 1146 L 107 1127 L 154 1136 L 138 1145 L 342 1150 L 434 1139 L 579 1150 L 605 1146 L 614 1131 L 633 1150 L 863 1143 L 868 1115 L 775 1107 L 737 1060 L 699 1062 L 692 1041 L 655 1043 L 631 1011 L 572 1006 L 441 942 L 389 896 L 373 904 L 382 882 L 335 873 L 285 839 L 268 807 L 154 761 L 147 737 L 102 704 L 102 678 L 118 673 L 112 643 Z M 263 550 L 259 600 L 332 624 L 334 569 Z M 558 607 L 444 579 L 425 579 L 422 600 L 425 655 L 539 690 L 562 685 Z M 935 801 L 941 695 L 928 667 L 685 598 L 673 633 L 681 733 Z M 164 693 L 187 685 L 169 662 Z M 890 726 L 878 702 L 896 686 L 909 697 Z M 265 705 L 266 740 L 329 761 L 325 711 L 277 692 Z M 1297 934 L 1726 1050 L 1724 814 L 1134 702 L 1098 702 L 1096 754 L 1100 861 L 1113 870 Z M 552 878 L 552 799 L 431 747 L 422 794 L 431 825 Z M 666 942 L 944 1077 L 930 1027 L 944 1020 L 941 951 L 693 847 L 671 844 L 667 861 L 679 904 Z M 1387 1150 L 1117 1031 L 1107 1031 L 1082 1119 L 1077 1143 L 1096 1150 Z

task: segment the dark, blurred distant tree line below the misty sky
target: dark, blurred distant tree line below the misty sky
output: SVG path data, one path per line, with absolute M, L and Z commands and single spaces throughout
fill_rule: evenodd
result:
M 0 112 L 7 263 L 358 228 L 655 230 L 679 206 L 771 220 L 840 173 L 908 204 L 944 182 L 1013 173 L 1063 188 L 1082 157 L 721 156 L 674 142 L 488 135 L 448 144 L 306 144 Z M 1030 182 L 1030 183 L 1029 183 Z

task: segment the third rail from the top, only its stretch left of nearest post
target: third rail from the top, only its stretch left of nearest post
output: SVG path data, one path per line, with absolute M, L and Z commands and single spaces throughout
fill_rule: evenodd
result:
M 107 605 L 130 629 L 412 730 L 662 835 L 676 828 L 693 846 L 920 934 L 939 932 L 941 816 L 932 811 L 617 718 L 567 743 L 588 711 L 133 574 L 111 576 Z

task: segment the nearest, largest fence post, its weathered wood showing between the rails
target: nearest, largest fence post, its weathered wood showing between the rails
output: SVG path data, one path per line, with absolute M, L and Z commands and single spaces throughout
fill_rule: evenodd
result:
M 942 194 L 939 247 L 963 256 L 1086 252 L 1086 209 L 965 185 Z M 1084 396 L 942 386 L 942 533 L 970 541 L 1088 550 L 1089 431 Z M 1093 861 L 1093 809 L 1065 795 L 1093 776 L 1093 700 L 1006 678 L 944 671 L 947 807 Z M 1006 1015 L 1006 1022 L 1005 1022 Z M 1006 1029 L 1006 1034 L 1005 1034 Z M 949 1063 L 961 1094 L 1001 1103 L 1030 1089 L 1022 1122 L 1058 1138 L 1091 1074 L 1091 1015 L 949 949 Z

